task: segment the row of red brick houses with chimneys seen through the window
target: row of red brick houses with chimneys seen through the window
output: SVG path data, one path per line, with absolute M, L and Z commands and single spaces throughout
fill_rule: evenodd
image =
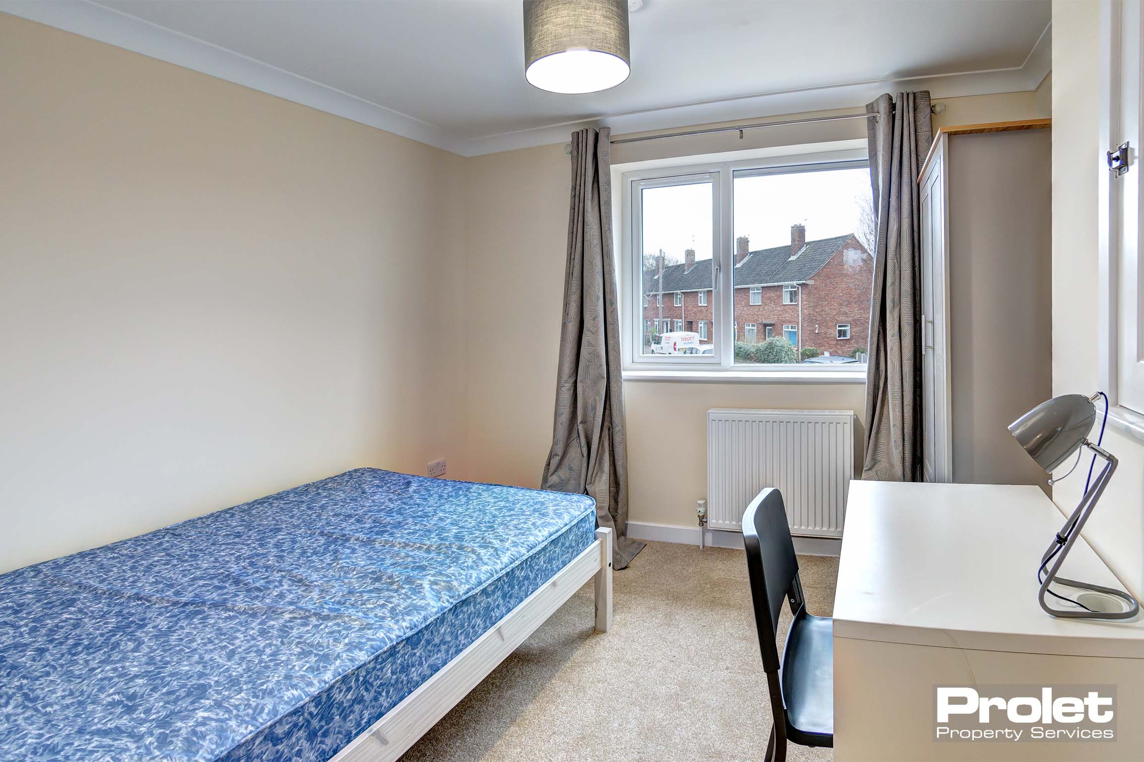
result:
M 662 272 L 660 272 L 660 270 Z M 644 271 L 644 340 L 672 330 L 715 340 L 712 322 L 712 260 L 696 262 L 694 249 L 677 265 Z M 823 354 L 865 350 L 874 260 L 853 233 L 807 241 L 807 228 L 791 226 L 791 244 L 750 250 L 736 241 L 734 331 L 737 342 L 782 336 Z

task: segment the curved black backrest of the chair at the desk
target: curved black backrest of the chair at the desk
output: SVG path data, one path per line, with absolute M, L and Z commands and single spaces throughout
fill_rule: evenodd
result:
M 750 599 L 755 608 L 763 668 L 777 672 L 779 612 L 788 594 L 792 610 L 802 604 L 799 559 L 794 553 L 782 495 L 777 489 L 764 489 L 747 506 L 742 514 L 742 543 L 747 551 L 747 575 L 750 578 Z

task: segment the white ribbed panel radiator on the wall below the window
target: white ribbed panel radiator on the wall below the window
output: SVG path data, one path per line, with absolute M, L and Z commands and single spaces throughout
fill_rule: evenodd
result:
M 851 410 L 708 410 L 707 526 L 741 531 L 750 500 L 777 487 L 792 535 L 842 537 L 853 418 Z

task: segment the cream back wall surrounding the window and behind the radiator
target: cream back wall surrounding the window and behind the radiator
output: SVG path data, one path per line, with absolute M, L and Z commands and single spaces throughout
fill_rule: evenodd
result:
M 1048 113 L 1034 93 L 942 98 L 937 126 Z M 816 112 L 826 115 L 840 112 Z M 781 119 L 776 117 L 776 119 Z M 864 138 L 858 120 L 617 145 L 613 163 Z M 534 487 L 551 441 L 567 230 L 569 159 L 563 145 L 470 159 L 467 166 L 466 314 L 498 340 L 468 358 L 463 478 Z M 508 283 L 527 288 L 507 288 Z M 864 438 L 863 384 L 629 382 L 630 519 L 693 526 L 707 492 L 706 411 L 717 407 L 849 409 Z M 665 415 L 670 410 L 672 415 Z M 860 446 L 856 448 L 859 452 Z M 670 479 L 665 479 L 665 473 Z

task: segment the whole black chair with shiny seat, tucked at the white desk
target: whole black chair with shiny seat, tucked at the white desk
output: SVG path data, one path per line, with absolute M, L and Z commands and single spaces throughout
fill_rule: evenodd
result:
M 807 613 L 799 560 L 777 489 L 764 489 L 742 514 L 742 542 L 774 719 L 764 759 L 785 761 L 788 740 L 833 747 L 834 620 Z M 780 660 L 776 639 L 782 599 L 789 601 L 794 620 Z

